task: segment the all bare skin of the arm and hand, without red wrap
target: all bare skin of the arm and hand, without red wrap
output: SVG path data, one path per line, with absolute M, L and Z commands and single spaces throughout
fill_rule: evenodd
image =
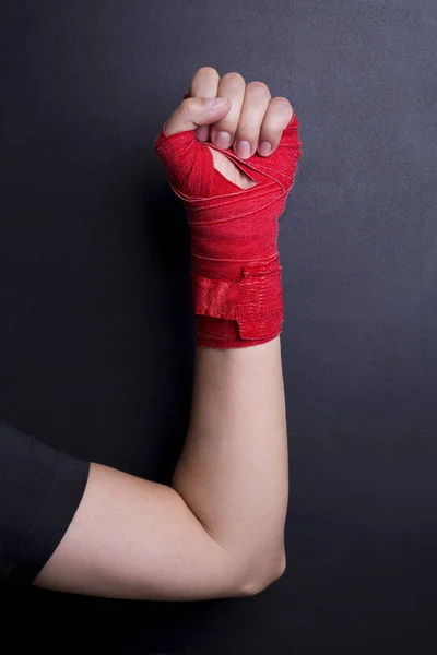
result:
M 196 129 L 220 146 L 220 132 L 229 131 L 234 148 L 243 140 L 255 152 L 268 140 L 274 151 L 293 116 L 286 98 L 271 98 L 267 85 L 246 84 L 239 73 L 220 78 L 203 67 L 189 88 L 168 134 Z M 215 96 L 228 102 L 210 112 L 199 98 Z M 227 179 L 252 183 L 212 153 Z M 198 346 L 191 419 L 172 486 L 92 463 L 82 502 L 35 584 L 120 598 L 251 596 L 285 570 L 287 501 L 280 336 L 238 349 Z

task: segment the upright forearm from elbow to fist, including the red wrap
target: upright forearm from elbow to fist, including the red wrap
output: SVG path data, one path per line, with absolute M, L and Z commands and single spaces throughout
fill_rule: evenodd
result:
M 213 109 L 210 100 L 220 98 Z M 191 420 L 173 486 L 240 570 L 261 571 L 258 580 L 279 576 L 285 564 L 277 219 L 302 154 L 298 126 L 288 100 L 272 98 L 267 85 L 206 67 L 155 141 L 190 225 L 198 343 Z M 250 153 L 237 145 L 245 141 Z M 272 144 L 268 159 L 257 152 L 262 141 Z

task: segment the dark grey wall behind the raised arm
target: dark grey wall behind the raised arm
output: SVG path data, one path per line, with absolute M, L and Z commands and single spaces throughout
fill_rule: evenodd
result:
M 194 72 L 265 82 L 303 142 L 280 236 L 286 573 L 204 603 L 3 592 L 3 630 L 36 617 L 15 640 L 47 648 L 57 622 L 94 653 L 434 653 L 435 0 L 3 0 L 0 17 L 0 414 L 72 454 L 167 484 L 184 443 L 189 237 L 153 142 Z

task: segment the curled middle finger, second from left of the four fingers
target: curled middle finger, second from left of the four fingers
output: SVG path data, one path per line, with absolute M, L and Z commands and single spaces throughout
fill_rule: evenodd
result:
M 240 73 L 226 73 L 218 82 L 217 96 L 229 98 L 231 109 L 210 128 L 211 141 L 221 148 L 231 147 L 245 99 L 246 82 Z

